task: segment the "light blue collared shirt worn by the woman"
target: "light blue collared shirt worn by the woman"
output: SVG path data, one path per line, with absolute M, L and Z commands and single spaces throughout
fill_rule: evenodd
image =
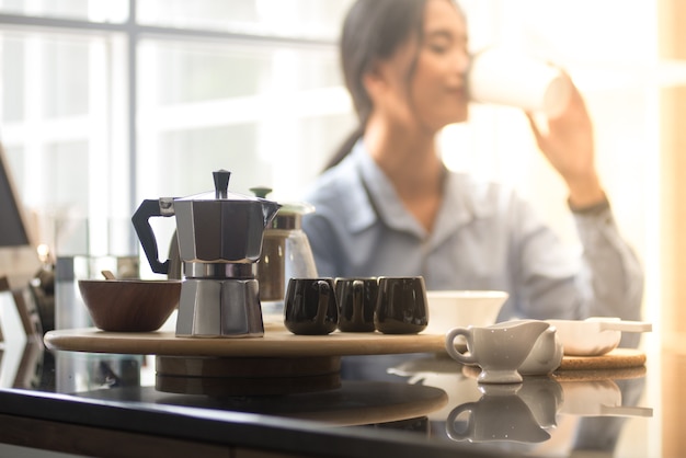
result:
M 321 276 L 422 275 L 427 289 L 510 294 L 500 320 L 640 319 L 643 273 L 609 208 L 574 214 L 574 254 L 506 186 L 448 173 L 434 229 L 405 209 L 358 141 L 313 183 L 304 219 Z

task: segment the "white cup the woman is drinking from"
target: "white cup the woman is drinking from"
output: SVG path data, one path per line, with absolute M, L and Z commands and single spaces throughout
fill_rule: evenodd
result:
M 564 111 L 572 90 L 559 68 L 531 56 L 498 48 L 472 57 L 467 84 L 475 102 L 514 106 L 548 117 Z

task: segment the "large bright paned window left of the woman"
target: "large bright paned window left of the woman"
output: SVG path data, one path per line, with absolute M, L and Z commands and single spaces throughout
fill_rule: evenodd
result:
M 232 191 L 296 195 L 354 124 L 335 50 L 348 3 L 0 0 L 0 139 L 39 239 L 137 252 L 112 221 L 220 168 Z

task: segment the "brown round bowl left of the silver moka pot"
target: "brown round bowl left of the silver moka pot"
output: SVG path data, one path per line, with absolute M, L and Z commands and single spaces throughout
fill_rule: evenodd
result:
M 80 279 L 79 290 L 101 330 L 151 332 L 179 305 L 181 280 Z

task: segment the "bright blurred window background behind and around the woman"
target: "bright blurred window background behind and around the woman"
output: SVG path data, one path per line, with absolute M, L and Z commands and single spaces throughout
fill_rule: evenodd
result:
M 211 190 L 219 168 L 235 192 L 297 198 L 355 125 L 336 54 L 350 3 L 0 0 L 0 141 L 36 241 L 57 255 L 137 255 L 140 201 Z M 472 50 L 517 47 L 581 88 L 606 191 L 645 265 L 645 319 L 686 348 L 686 1 L 459 3 Z M 442 151 L 454 170 L 516 186 L 579 249 L 522 113 L 475 105 Z

